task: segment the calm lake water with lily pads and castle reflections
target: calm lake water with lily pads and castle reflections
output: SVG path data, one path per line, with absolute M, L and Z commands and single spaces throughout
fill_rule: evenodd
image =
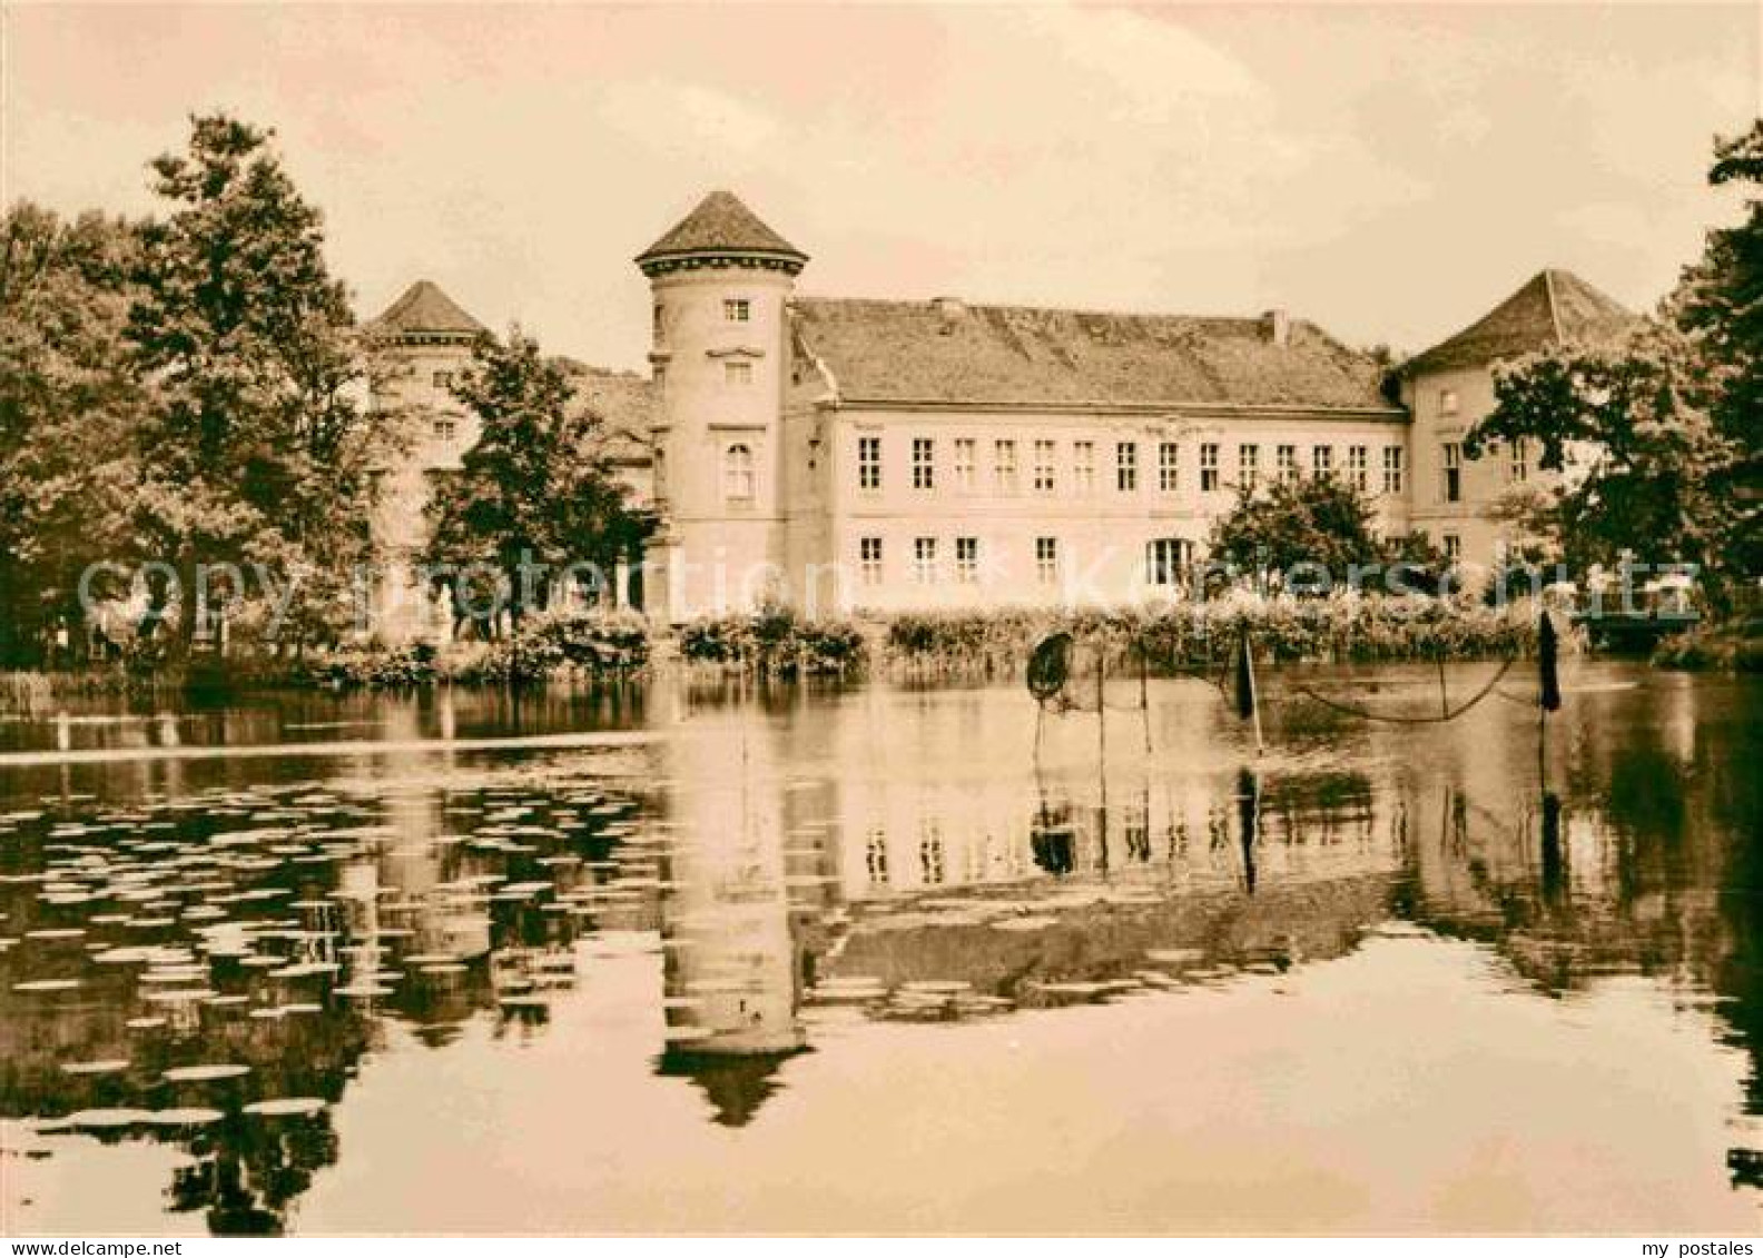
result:
M 1298 680 L 0 724 L 0 1232 L 1754 1233 L 1763 691 Z

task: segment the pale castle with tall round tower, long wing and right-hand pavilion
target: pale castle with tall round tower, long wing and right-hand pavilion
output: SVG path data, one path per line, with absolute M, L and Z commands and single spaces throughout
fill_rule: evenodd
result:
M 712 192 L 636 257 L 654 298 L 651 608 L 695 615 L 1172 594 L 1243 490 L 1343 477 L 1465 564 L 1527 451 L 1469 460 L 1491 365 L 1629 315 L 1544 271 L 1387 372 L 1315 324 L 799 296 L 807 255 Z

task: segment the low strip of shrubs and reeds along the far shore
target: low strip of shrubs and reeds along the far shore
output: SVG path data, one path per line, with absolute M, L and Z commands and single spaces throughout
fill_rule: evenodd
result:
M 619 682 L 677 659 L 705 675 L 788 680 L 882 675 L 901 680 L 1019 677 L 1051 633 L 1100 643 L 1121 662 L 1139 652 L 1151 673 L 1222 664 L 1246 631 L 1268 664 L 1467 661 L 1525 655 L 1536 645 L 1536 608 L 1432 599 L 1252 599 L 1171 603 L 1134 610 L 927 611 L 818 618 L 786 608 L 705 617 L 672 640 L 629 611 L 529 617 L 494 641 L 444 647 L 344 647 L 301 659 L 197 657 L 183 666 L 0 673 L 0 712 L 41 712 L 69 696 L 185 689 L 414 689 L 425 685 L 529 685 L 552 680 Z M 1685 634 L 1666 640 L 1655 662 L 1670 668 L 1756 671 L 1756 641 Z

